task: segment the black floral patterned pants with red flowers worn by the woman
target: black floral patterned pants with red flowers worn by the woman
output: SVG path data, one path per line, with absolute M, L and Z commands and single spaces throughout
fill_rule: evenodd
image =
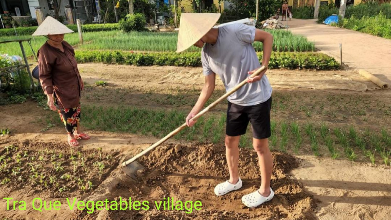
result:
M 56 95 L 54 95 L 54 103 L 58 108 Z M 65 125 L 65 129 L 68 134 L 73 134 L 75 129 L 77 129 L 77 123 L 80 122 L 80 105 L 70 109 L 58 108 L 57 111 L 60 115 L 61 122 L 63 122 Z

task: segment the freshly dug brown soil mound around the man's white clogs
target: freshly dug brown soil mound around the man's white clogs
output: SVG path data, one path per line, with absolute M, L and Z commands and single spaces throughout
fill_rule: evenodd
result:
M 245 207 L 241 197 L 259 188 L 260 172 L 257 155 L 253 150 L 240 149 L 240 177 L 243 187 L 240 190 L 217 197 L 213 188 L 228 178 L 225 161 L 225 148 L 216 145 L 164 145 L 149 152 L 138 161 L 145 169 L 138 172 L 137 180 L 122 178 L 104 197 L 119 201 L 119 197 L 131 197 L 132 201 L 148 201 L 149 210 L 106 209 L 94 214 L 86 211 L 73 213 L 74 220 L 236 220 L 236 219 L 289 219 L 312 220 L 315 200 L 301 184 L 287 173 L 298 166 L 292 156 L 283 153 L 273 154 L 273 176 L 271 187 L 274 199 L 255 209 Z M 117 169 L 118 171 L 118 169 Z M 119 173 L 117 173 L 119 174 Z M 114 175 L 114 174 L 113 174 Z M 124 175 L 123 173 L 121 175 Z M 177 202 L 199 201 L 201 210 L 158 210 L 155 201 Z M 122 199 L 124 200 L 124 199 Z M 159 204 L 159 203 L 158 203 Z M 178 203 L 175 203 L 178 204 Z M 174 205 L 175 206 L 175 205 Z

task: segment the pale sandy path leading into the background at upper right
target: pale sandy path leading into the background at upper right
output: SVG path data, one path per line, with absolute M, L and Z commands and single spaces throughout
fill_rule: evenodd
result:
M 365 69 L 391 83 L 391 40 L 354 30 L 317 24 L 315 20 L 292 19 L 289 30 L 306 36 L 316 48 L 340 61 L 339 44 L 342 43 L 342 62 L 354 69 Z

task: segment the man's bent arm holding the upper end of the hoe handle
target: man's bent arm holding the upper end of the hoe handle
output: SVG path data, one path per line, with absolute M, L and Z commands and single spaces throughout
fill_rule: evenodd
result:
M 262 42 L 263 45 L 263 56 L 262 56 L 262 66 L 269 66 L 269 61 L 270 61 L 270 56 L 271 52 L 273 50 L 273 35 L 271 35 L 269 32 L 260 30 L 260 29 L 255 29 L 255 38 L 254 41 L 259 41 Z M 256 70 L 253 70 L 249 72 L 249 74 L 253 74 Z M 264 70 L 260 75 L 257 77 L 251 78 L 249 77 L 248 82 L 256 82 L 259 81 L 262 76 L 265 74 L 267 71 Z

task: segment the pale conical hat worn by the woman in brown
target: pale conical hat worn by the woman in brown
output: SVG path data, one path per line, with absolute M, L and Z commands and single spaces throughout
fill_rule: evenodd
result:
M 35 30 L 32 36 L 67 34 L 72 32 L 74 31 L 66 27 L 60 21 L 57 21 L 56 19 L 50 16 L 47 16 L 47 18 L 45 18 L 45 20 L 41 23 L 41 25 L 39 25 L 39 27 L 37 28 L 37 30 Z

